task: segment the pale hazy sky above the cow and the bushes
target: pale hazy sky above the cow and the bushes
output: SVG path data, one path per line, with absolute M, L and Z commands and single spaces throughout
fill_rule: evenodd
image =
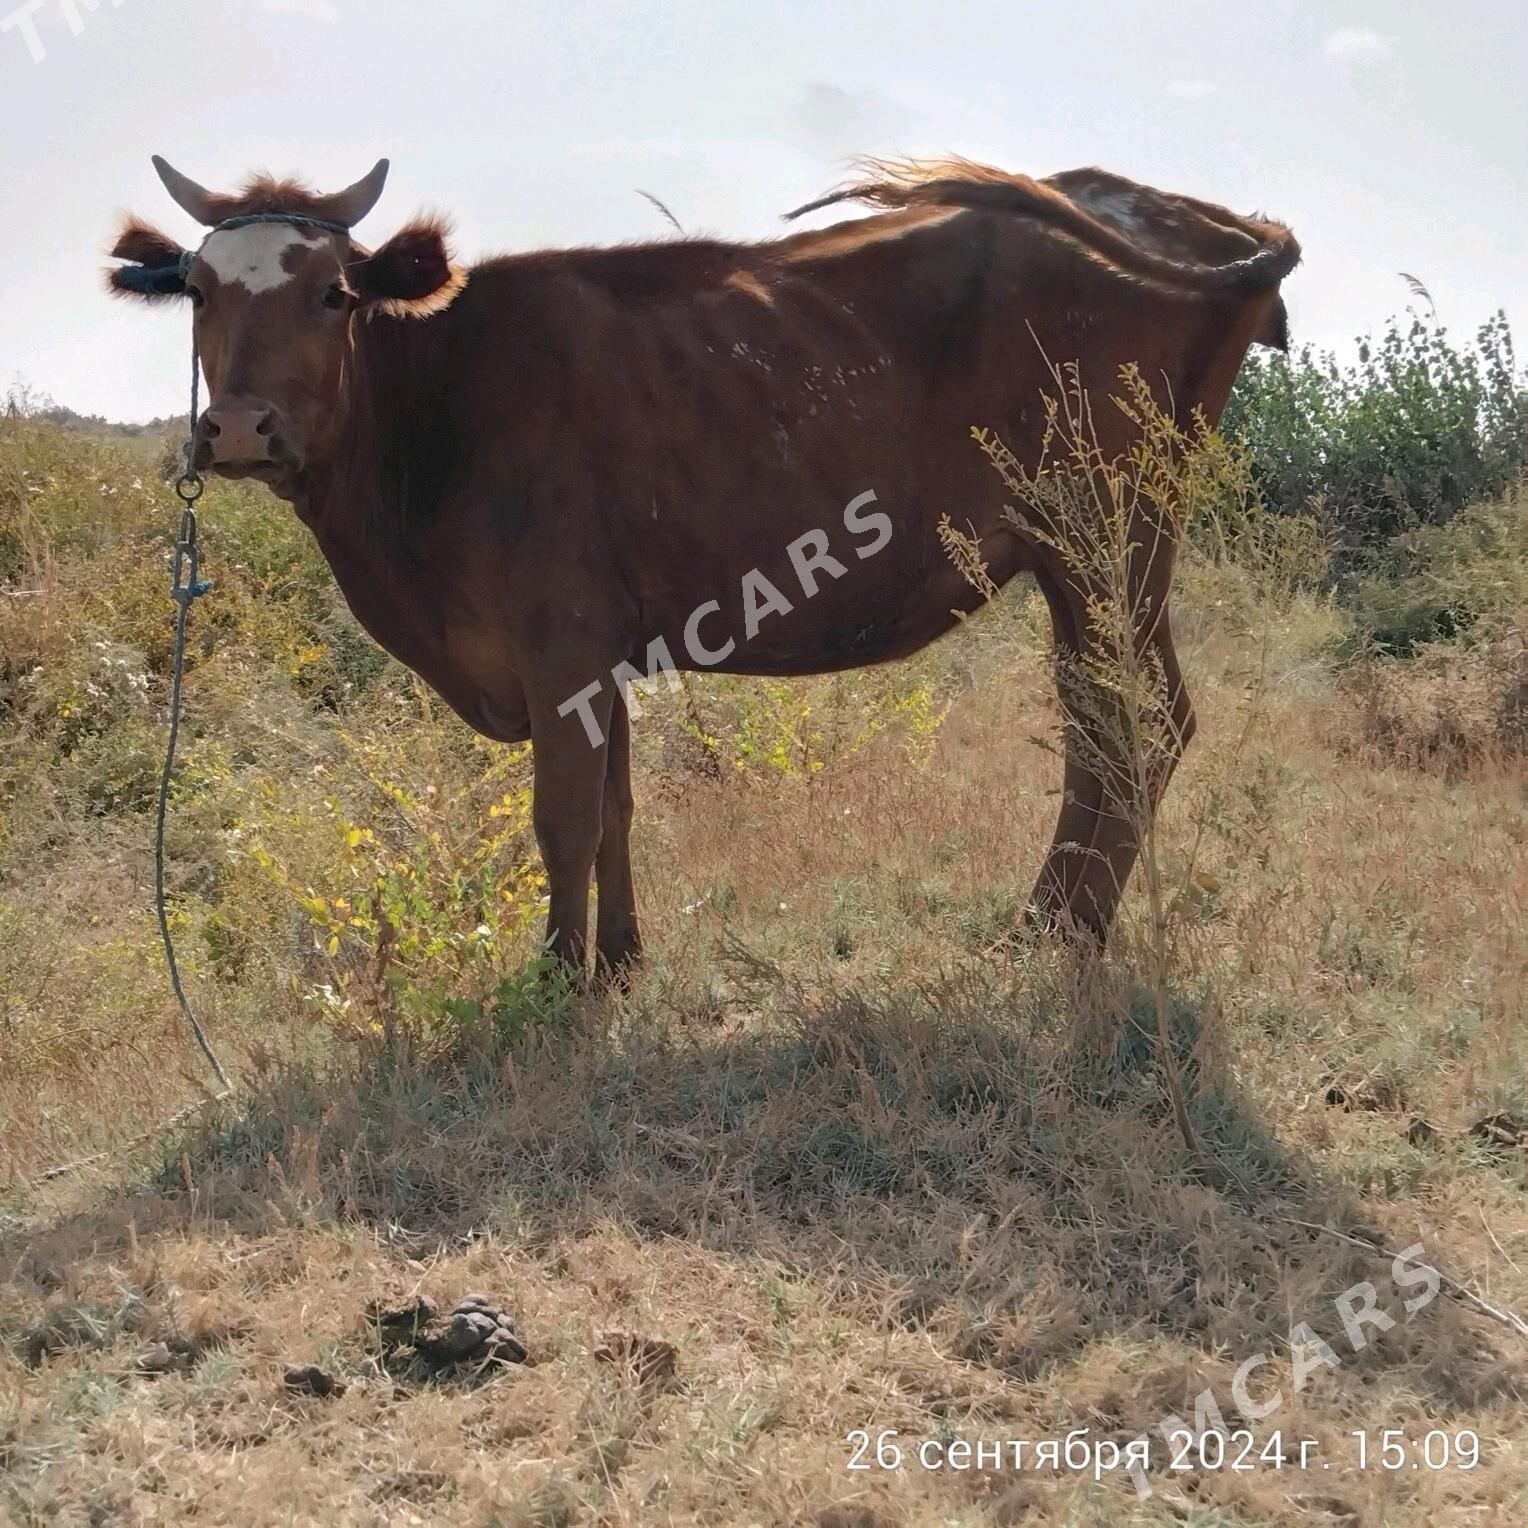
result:
M 1297 342 L 1404 312 L 1398 272 L 1528 336 L 1525 79 L 1520 0 L 0 0 L 0 394 L 186 406 L 188 310 L 101 286 L 122 212 L 194 237 L 153 153 L 325 191 L 387 154 L 358 237 L 429 208 L 469 260 L 665 237 L 639 189 L 770 237 L 860 153 L 1102 165 L 1290 223 Z

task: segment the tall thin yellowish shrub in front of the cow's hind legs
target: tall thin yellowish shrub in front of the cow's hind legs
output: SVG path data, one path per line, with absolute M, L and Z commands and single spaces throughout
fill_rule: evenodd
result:
M 1160 646 L 1141 640 L 1161 619 L 1161 608 L 1154 608 L 1140 568 L 1166 544 L 1187 550 L 1203 567 L 1239 570 L 1264 601 L 1277 602 L 1313 576 L 1325 556 L 1319 535 L 1302 518 L 1270 524 L 1245 451 L 1216 435 L 1203 414 L 1178 423 L 1135 367 L 1122 370 L 1118 393 L 1106 402 L 1088 394 L 1076 367 L 1056 368 L 1053 382 L 1038 465 L 1027 466 L 989 429 L 973 428 L 972 437 L 1004 487 L 1025 506 L 1019 512 L 1010 504 L 1008 521 L 1045 547 L 1080 596 L 1079 623 L 1085 620 L 1086 630 L 1074 652 L 1059 654 L 1057 730 L 1068 759 L 1099 782 L 1096 821 L 1125 822 L 1138 848 L 1149 920 L 1141 949 L 1151 978 L 1144 1007 L 1152 1024 L 1135 1015 L 1125 1019 L 1146 1044 L 1155 1042 L 1178 1129 L 1189 1149 L 1198 1151 L 1186 1093 L 1193 1068 L 1181 1068 L 1177 1056 L 1170 981 L 1184 914 L 1203 906 L 1201 894 L 1215 888 L 1213 877 L 1206 880 L 1195 869 L 1203 822 L 1177 869 L 1163 853 L 1157 808 L 1186 743 L 1186 711 Z M 1094 410 L 1109 403 L 1135 426 L 1131 446 L 1117 457 L 1106 454 L 1094 428 Z M 996 590 L 979 545 L 949 516 L 940 532 L 957 567 L 992 597 Z M 1259 689 L 1253 677 L 1248 703 L 1261 700 Z M 1094 839 L 1089 854 L 1102 856 L 1109 874 L 1118 876 L 1122 865 L 1129 869 L 1117 842 L 1106 840 L 1100 850 Z M 1112 906 L 1106 917 L 1111 912 Z M 1076 891 L 1065 915 L 1086 915 Z M 1115 935 L 1115 947 L 1120 943 Z

